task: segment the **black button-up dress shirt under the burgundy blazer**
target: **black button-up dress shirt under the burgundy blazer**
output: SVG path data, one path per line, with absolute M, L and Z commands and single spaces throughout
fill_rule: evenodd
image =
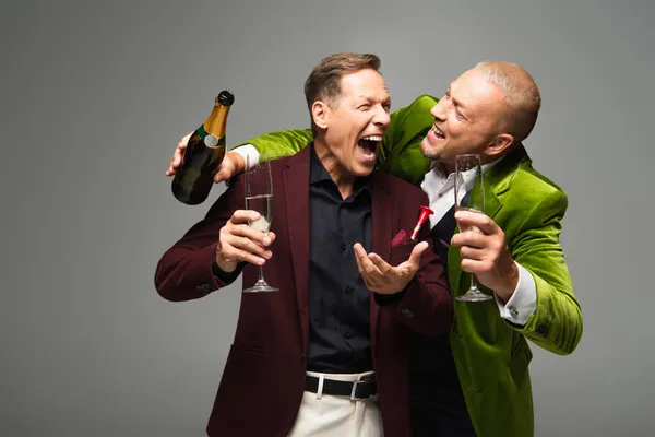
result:
M 310 162 L 308 370 L 355 374 L 373 369 L 370 293 L 353 246 L 371 249 L 370 180 L 359 178 L 342 199 L 313 144 Z

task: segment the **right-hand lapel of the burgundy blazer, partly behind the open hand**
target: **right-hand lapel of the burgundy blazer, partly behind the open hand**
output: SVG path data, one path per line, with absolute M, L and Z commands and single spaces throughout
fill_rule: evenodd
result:
M 392 214 L 393 205 L 390 200 L 390 192 L 384 175 L 380 170 L 373 170 L 371 175 L 371 250 L 378 253 L 383 260 L 389 261 L 391 255 L 392 235 Z M 373 356 L 376 349 L 376 334 L 378 327 L 378 305 L 371 296 L 370 299 L 370 327 L 371 327 L 371 344 L 373 347 Z

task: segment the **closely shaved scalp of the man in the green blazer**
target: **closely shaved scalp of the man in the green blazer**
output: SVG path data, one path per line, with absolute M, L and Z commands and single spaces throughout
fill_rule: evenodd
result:
M 541 96 L 533 76 L 512 62 L 485 61 L 474 70 L 504 94 L 508 111 L 503 117 L 503 130 L 513 135 L 515 142 L 525 140 L 535 127 L 541 107 Z

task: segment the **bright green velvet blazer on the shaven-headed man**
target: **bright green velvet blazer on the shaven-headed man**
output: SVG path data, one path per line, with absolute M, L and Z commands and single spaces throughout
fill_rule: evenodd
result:
M 432 126 L 429 111 L 437 102 L 421 95 L 392 114 L 379 153 L 381 169 L 420 184 L 431 164 L 420 153 L 420 142 Z M 306 129 L 265 133 L 247 143 L 276 158 L 296 153 L 311 140 Z M 491 167 L 484 184 L 486 213 L 504 231 L 513 259 L 533 275 L 537 308 L 521 327 L 501 318 L 493 300 L 453 299 L 451 346 L 477 435 L 533 436 L 532 352 L 526 339 L 567 355 L 582 336 L 582 311 L 559 241 L 568 200 L 564 191 L 533 168 L 523 145 Z M 458 248 L 450 249 L 448 265 L 451 293 L 465 293 L 468 280 L 460 267 Z

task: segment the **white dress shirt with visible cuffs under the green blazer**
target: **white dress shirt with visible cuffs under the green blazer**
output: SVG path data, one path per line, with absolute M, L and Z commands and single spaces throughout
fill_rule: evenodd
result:
M 234 152 L 239 153 L 246 160 L 250 156 L 251 167 L 259 162 L 259 152 L 252 144 L 246 144 L 234 149 Z M 502 158 L 501 158 L 502 160 Z M 483 165 L 483 174 L 496 165 L 500 160 Z M 473 172 L 462 174 L 464 182 L 460 185 L 461 197 L 464 197 L 475 182 Z M 432 164 L 430 170 L 426 174 L 420 188 L 428 194 L 430 200 L 430 209 L 434 214 L 430 215 L 430 227 L 433 227 L 443 215 L 455 204 L 455 174 L 445 175 L 441 170 L 440 165 Z M 446 241 L 449 243 L 449 241 Z M 521 264 L 514 261 L 519 268 L 519 284 L 512 294 L 512 297 L 507 304 L 503 304 L 495 294 L 496 305 L 500 311 L 500 316 L 515 324 L 524 326 L 527 319 L 537 308 L 537 286 L 535 279 Z M 476 305 L 476 304 L 471 304 Z M 477 304 L 479 305 L 479 304 Z

